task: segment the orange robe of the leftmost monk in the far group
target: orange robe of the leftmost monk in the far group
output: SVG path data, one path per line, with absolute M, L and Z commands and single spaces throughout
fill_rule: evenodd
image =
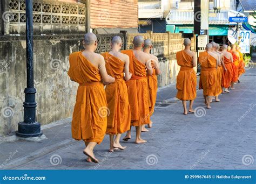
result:
M 193 69 L 193 58 L 185 51 L 179 51 L 176 59 L 181 66 L 177 76 L 176 97 L 179 100 L 194 100 L 197 97 L 197 75 Z

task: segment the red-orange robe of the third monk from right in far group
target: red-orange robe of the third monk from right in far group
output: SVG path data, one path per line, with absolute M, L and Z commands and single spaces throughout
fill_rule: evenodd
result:
M 223 72 L 223 87 L 229 88 L 233 79 L 232 62 L 224 56 L 224 63 L 227 70 Z

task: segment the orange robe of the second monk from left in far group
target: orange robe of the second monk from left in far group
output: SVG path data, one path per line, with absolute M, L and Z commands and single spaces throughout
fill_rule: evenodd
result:
M 217 96 L 217 60 L 205 51 L 199 54 L 199 63 L 201 65 L 199 89 L 203 89 L 204 96 Z

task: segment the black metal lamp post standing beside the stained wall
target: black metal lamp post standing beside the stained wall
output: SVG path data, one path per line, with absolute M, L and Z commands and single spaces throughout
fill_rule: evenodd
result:
M 33 81 L 33 10 L 32 0 L 26 0 L 26 88 L 24 121 L 19 122 L 18 137 L 38 137 L 42 135 L 41 125 L 36 122 L 36 89 Z

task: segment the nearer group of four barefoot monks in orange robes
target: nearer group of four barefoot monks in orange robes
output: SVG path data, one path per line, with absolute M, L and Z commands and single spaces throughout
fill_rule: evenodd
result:
M 157 95 L 158 59 L 150 54 L 152 42 L 142 36 L 133 39 L 133 49 L 121 51 L 122 39 L 114 36 L 111 51 L 95 53 L 97 37 L 87 33 L 84 51 L 70 54 L 68 75 L 79 83 L 72 119 L 72 137 L 85 141 L 83 153 L 88 162 L 99 162 L 93 148 L 105 134 L 110 135 L 110 150 L 124 150 L 120 144 L 131 139 L 131 126 L 136 127 L 135 143 L 146 143 L 141 132 L 151 128 L 150 117 Z M 106 86 L 104 89 L 104 85 Z

